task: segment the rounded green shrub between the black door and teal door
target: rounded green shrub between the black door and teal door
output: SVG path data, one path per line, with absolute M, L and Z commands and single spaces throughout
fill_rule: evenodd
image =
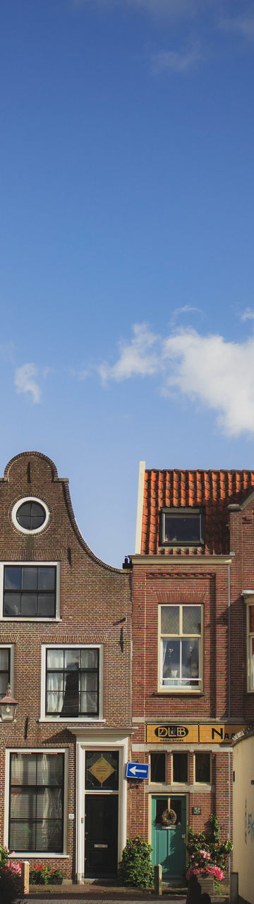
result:
M 118 880 L 122 885 L 148 889 L 154 886 L 154 870 L 151 863 L 151 844 L 142 841 L 139 835 L 133 840 L 127 838 L 118 867 Z

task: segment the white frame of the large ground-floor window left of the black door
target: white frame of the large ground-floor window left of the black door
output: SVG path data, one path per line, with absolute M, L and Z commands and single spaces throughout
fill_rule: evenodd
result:
M 11 753 L 22 753 L 24 756 L 31 753 L 46 753 L 47 755 L 63 753 L 64 755 L 64 781 L 63 781 L 63 842 L 62 847 L 63 851 L 61 853 L 52 852 L 49 853 L 47 851 L 19 851 L 17 857 L 33 857 L 36 859 L 42 857 L 48 859 L 59 860 L 61 857 L 68 857 L 69 854 L 67 850 L 67 830 L 68 830 L 68 778 L 69 778 L 69 750 L 67 748 L 16 748 L 12 747 L 5 751 L 5 829 L 4 829 L 4 844 L 8 847 L 8 834 L 9 834 L 9 807 L 10 807 L 10 769 L 11 769 Z

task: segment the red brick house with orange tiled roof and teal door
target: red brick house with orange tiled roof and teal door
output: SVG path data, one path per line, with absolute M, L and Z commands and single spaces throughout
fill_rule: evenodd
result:
M 141 463 L 131 757 L 150 777 L 130 819 L 165 877 L 183 874 L 189 824 L 213 813 L 231 836 L 231 736 L 254 718 L 253 530 L 254 472 Z

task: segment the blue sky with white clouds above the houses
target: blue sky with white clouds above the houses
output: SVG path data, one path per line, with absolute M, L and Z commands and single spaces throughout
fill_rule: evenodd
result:
M 253 3 L 0 20 L 0 469 L 52 457 L 120 566 L 140 459 L 254 467 Z

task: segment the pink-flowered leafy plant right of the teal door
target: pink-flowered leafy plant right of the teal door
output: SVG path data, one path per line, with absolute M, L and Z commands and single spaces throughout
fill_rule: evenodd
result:
M 188 833 L 187 850 L 189 861 L 187 863 L 186 879 L 197 876 L 214 876 L 215 884 L 221 882 L 225 876 L 227 858 L 232 850 L 229 839 L 221 843 L 220 828 L 216 816 L 210 816 L 210 832 L 196 834 L 190 827 Z

